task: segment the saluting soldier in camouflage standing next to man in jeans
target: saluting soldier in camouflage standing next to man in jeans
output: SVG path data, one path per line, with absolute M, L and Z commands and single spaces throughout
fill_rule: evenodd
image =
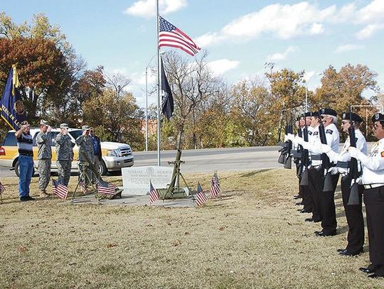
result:
M 38 145 L 38 189 L 40 190 L 40 197 L 48 197 L 46 192 L 50 180 L 50 163 L 52 158 L 52 148 L 48 132 L 51 127 L 47 121 L 43 119 L 40 121 L 40 132 L 36 136 L 36 143 Z

